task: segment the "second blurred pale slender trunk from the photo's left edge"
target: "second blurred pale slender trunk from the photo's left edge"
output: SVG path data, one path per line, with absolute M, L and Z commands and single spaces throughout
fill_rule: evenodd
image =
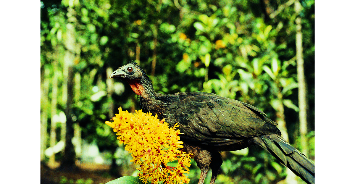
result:
M 50 147 L 54 147 L 57 143 L 56 140 L 56 128 L 57 120 L 54 118 L 57 114 L 57 97 L 58 97 L 58 63 L 54 59 L 52 62 L 53 66 L 53 78 L 52 78 L 52 99 L 51 99 L 51 123 L 50 123 Z M 48 166 L 51 168 L 55 167 L 55 153 L 49 156 Z

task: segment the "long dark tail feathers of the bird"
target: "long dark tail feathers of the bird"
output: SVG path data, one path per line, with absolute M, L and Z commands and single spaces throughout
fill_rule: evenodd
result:
M 314 163 L 288 144 L 281 136 L 276 134 L 261 135 L 254 137 L 253 141 L 271 153 L 305 182 L 314 184 Z

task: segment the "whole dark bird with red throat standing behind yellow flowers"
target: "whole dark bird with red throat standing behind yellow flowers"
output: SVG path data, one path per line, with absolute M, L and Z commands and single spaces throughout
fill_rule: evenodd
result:
M 119 67 L 110 78 L 128 82 L 140 96 L 143 112 L 157 114 L 170 127 L 179 125 L 180 140 L 201 169 L 198 184 L 204 183 L 209 168 L 210 184 L 214 184 L 223 162 L 221 152 L 252 145 L 264 148 L 306 183 L 314 184 L 314 163 L 286 142 L 277 123 L 256 107 L 206 92 L 157 93 L 146 72 L 134 62 Z

